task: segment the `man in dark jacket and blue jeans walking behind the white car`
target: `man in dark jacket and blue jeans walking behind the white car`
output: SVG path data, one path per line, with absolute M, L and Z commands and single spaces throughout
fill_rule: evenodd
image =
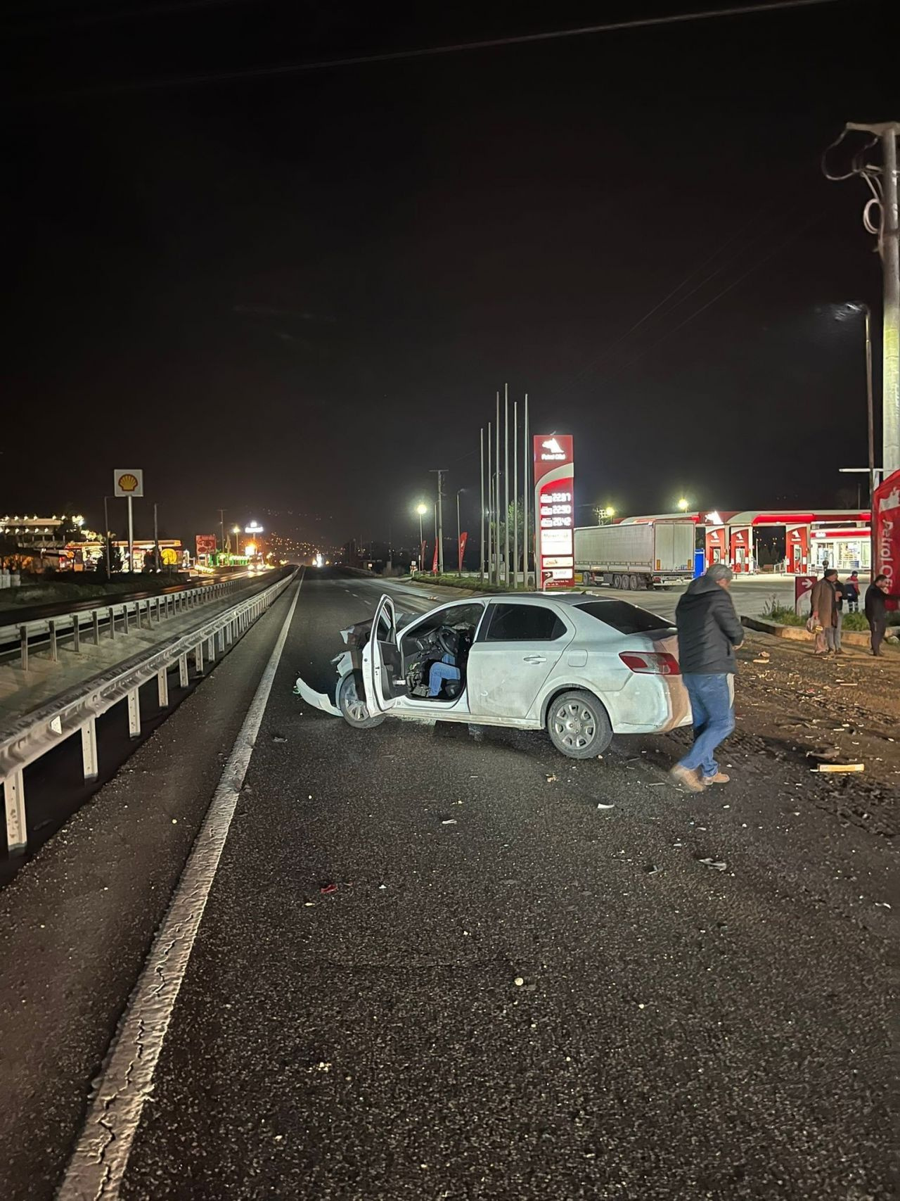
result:
M 694 715 L 694 746 L 670 775 L 692 793 L 708 784 L 727 784 L 713 758 L 734 729 L 734 650 L 744 643 L 744 627 L 728 596 L 732 572 L 713 563 L 694 580 L 676 608 L 682 680 Z

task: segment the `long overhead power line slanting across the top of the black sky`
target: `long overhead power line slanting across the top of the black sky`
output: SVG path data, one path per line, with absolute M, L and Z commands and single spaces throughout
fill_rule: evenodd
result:
M 79 91 L 58 92 L 48 100 L 77 100 L 109 95 L 118 91 L 150 91 L 164 88 L 188 88 L 205 83 L 222 83 L 230 79 L 262 79 L 277 76 L 301 74 L 310 71 L 328 71 L 336 67 L 367 66 L 378 62 L 402 62 L 413 59 L 438 58 L 470 50 L 490 50 L 505 46 L 529 46 L 536 42 L 562 41 L 569 37 L 586 37 L 595 34 L 616 34 L 632 29 L 654 29 L 664 25 L 680 25 L 697 20 L 715 20 L 721 17 L 750 17 L 760 13 L 784 12 L 792 8 L 821 7 L 844 0 L 768 0 L 766 4 L 744 4 L 731 8 L 710 8 L 700 12 L 671 13 L 666 17 L 636 17 L 631 20 L 605 22 L 600 25 L 580 25 L 575 29 L 554 29 L 540 34 L 517 34 L 508 37 L 488 37 L 473 42 L 451 42 L 446 46 L 425 46 L 410 50 L 384 50 L 379 54 L 356 54 L 340 59 L 320 59 L 312 62 L 286 62 L 280 66 L 244 67 L 236 71 L 214 71 L 203 74 L 143 79 L 134 83 L 110 84 Z

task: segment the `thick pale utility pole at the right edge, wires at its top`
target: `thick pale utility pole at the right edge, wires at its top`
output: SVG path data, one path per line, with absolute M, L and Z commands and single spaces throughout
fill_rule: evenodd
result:
M 896 136 L 900 125 L 888 126 L 881 136 L 884 151 L 882 186 L 881 256 L 884 273 L 884 333 L 881 341 L 884 478 L 900 467 L 900 231 L 896 201 Z

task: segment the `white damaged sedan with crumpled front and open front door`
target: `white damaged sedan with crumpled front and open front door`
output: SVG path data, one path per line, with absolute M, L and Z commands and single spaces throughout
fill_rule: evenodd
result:
M 296 691 L 359 729 L 385 717 L 546 729 L 563 754 L 590 759 L 613 734 L 690 722 L 676 631 L 628 600 L 476 597 L 398 625 L 383 596 L 371 621 L 342 635 L 336 705 L 302 680 Z

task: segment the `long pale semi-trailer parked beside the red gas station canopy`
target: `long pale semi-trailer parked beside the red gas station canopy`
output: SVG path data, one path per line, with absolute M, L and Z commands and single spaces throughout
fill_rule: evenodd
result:
M 694 563 L 692 521 L 583 526 L 575 531 L 575 574 L 582 584 L 652 588 L 686 584 Z

